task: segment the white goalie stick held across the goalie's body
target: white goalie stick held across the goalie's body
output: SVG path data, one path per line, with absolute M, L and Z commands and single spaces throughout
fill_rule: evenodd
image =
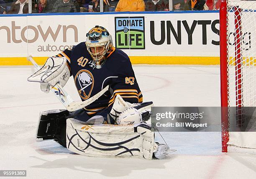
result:
M 40 70 L 41 67 L 34 61 L 32 56 L 28 56 L 27 60 L 30 61 L 37 70 Z M 51 91 L 54 93 L 54 95 L 60 100 L 62 105 L 66 107 L 66 109 L 69 112 L 73 112 L 75 110 L 82 109 L 83 107 L 86 107 L 87 105 L 90 105 L 92 102 L 97 100 L 100 96 L 102 96 L 106 91 L 108 91 L 108 87 L 106 86 L 103 90 L 98 92 L 93 97 L 90 97 L 89 99 L 83 101 L 83 102 L 76 102 L 70 97 L 70 95 L 61 87 L 59 83 L 55 84 L 54 87 L 50 86 Z

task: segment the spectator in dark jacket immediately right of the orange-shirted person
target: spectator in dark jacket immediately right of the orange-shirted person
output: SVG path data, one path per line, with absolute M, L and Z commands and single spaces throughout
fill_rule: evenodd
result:
M 146 2 L 146 11 L 163 11 L 164 9 L 169 9 L 167 0 L 148 0 Z

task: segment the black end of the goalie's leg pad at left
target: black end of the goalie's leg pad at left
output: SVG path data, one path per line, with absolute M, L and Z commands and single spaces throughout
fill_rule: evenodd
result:
M 56 139 L 61 128 L 66 126 L 67 110 L 50 110 L 40 113 L 36 138 Z

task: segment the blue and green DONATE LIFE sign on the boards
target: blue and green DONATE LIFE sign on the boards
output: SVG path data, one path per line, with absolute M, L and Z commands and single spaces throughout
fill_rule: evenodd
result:
M 145 49 L 144 17 L 115 17 L 115 46 L 118 49 Z

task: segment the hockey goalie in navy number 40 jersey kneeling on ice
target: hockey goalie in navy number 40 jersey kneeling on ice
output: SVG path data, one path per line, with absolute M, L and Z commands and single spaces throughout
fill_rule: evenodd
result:
M 74 112 L 42 112 L 36 138 L 54 139 L 85 156 L 164 158 L 169 147 L 154 142 L 154 131 L 145 122 L 153 102 L 143 102 L 129 57 L 115 49 L 101 26 L 86 36 L 86 42 L 48 58 L 28 81 L 40 82 L 41 90 L 48 93 L 56 84 L 64 87 L 73 76 L 82 101 L 107 86 L 108 91 Z

